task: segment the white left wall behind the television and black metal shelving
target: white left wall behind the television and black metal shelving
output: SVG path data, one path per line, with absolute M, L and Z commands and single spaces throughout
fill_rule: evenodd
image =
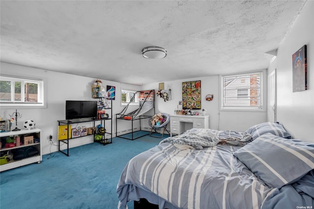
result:
M 41 143 L 43 148 L 43 154 L 49 154 L 50 152 L 57 151 L 56 146 L 51 146 L 48 137 L 52 135 L 53 143 L 56 145 L 57 141 L 57 120 L 65 120 L 65 101 L 66 100 L 93 100 L 91 98 L 91 85 L 95 82 L 97 78 L 88 78 L 81 76 L 74 76 L 70 74 L 57 73 L 53 71 L 47 71 L 37 68 L 30 68 L 20 65 L 13 65 L 7 63 L 0 63 L 1 75 L 14 75 L 30 78 L 46 78 L 47 84 L 47 108 L 18 108 L 18 112 L 22 114 L 22 118 L 18 119 L 18 128 L 23 128 L 23 122 L 26 120 L 34 120 L 36 123 L 36 128 L 41 129 Z M 102 72 L 100 72 L 102 73 Z M 130 90 L 139 90 L 139 86 L 121 84 L 113 81 L 102 80 L 103 85 L 110 85 L 116 87 L 116 99 L 112 101 L 113 106 L 113 118 L 115 114 L 122 110 L 120 92 L 121 88 L 126 88 Z M 3 109 L 1 112 L 5 111 L 5 116 L 12 114 L 15 108 Z M 122 120 L 119 120 L 119 122 Z M 124 121 L 122 121 L 124 122 Z M 92 127 L 92 123 L 82 123 L 80 125 L 86 125 L 86 127 Z M 107 124 L 106 124 L 107 125 Z M 131 123 L 122 123 L 119 129 L 129 129 Z M 13 126 L 15 128 L 15 124 Z M 115 120 L 113 120 L 113 131 L 115 135 Z M 114 136 L 113 135 L 113 136 Z M 70 140 L 70 148 L 76 147 L 82 144 L 87 144 L 93 142 L 92 136 L 81 137 L 78 139 Z M 66 145 L 63 145 L 61 149 L 65 149 Z M 70 153 L 71 155 L 71 153 Z

